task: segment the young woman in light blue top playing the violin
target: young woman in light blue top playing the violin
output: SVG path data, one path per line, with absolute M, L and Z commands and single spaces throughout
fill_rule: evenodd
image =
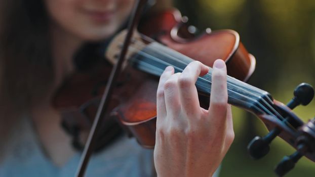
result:
M 73 176 L 80 152 L 60 126 L 53 93 L 74 72 L 74 56 L 124 26 L 134 0 L 2 1 L 0 24 L 0 176 Z M 163 6 L 164 5 L 164 6 Z M 158 1 L 156 8 L 170 2 Z M 159 176 L 211 176 L 234 133 L 227 105 L 226 66 L 214 63 L 209 110 L 194 83 L 200 62 L 182 73 L 167 67 L 157 89 L 154 166 Z M 87 176 L 151 176 L 152 151 L 117 137 L 92 156 Z

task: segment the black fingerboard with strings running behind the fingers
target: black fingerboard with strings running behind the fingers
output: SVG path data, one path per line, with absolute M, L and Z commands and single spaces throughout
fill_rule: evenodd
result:
M 134 68 L 155 76 L 161 76 L 167 66 L 173 66 L 175 73 L 182 72 L 192 61 L 194 60 L 157 42 L 151 42 L 130 59 Z M 212 68 L 196 81 L 200 94 L 210 97 L 211 76 Z M 273 109 L 270 108 L 273 104 L 270 94 L 231 76 L 227 76 L 227 93 L 229 104 L 256 114 L 269 114 L 270 109 Z

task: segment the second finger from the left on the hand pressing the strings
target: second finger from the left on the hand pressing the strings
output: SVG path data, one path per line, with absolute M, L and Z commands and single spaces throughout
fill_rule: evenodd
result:
M 164 98 L 167 117 L 176 118 L 180 111 L 178 76 L 181 73 L 173 74 L 164 84 Z

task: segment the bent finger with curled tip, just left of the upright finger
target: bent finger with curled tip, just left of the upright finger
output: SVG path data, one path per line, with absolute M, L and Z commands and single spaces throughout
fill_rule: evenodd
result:
M 188 115 L 200 111 L 195 82 L 200 75 L 205 75 L 208 71 L 209 67 L 199 61 L 193 61 L 186 66 L 178 78 L 181 106 Z

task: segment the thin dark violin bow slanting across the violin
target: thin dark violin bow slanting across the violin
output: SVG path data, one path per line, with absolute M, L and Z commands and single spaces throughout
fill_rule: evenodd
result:
M 121 50 L 120 56 L 119 56 L 119 60 L 117 61 L 117 63 L 114 65 L 109 79 L 108 79 L 108 83 L 106 85 L 104 94 L 102 96 L 100 105 L 98 107 L 95 119 L 93 121 L 93 125 L 91 127 L 90 133 L 89 133 L 89 137 L 87 140 L 87 143 L 84 147 L 83 150 L 83 154 L 81 156 L 81 160 L 80 160 L 80 164 L 77 168 L 76 171 L 76 175 L 77 177 L 82 177 L 85 174 L 87 165 L 89 163 L 90 157 L 93 153 L 94 150 L 94 145 L 95 145 L 95 141 L 96 141 L 96 137 L 97 137 L 97 132 L 100 129 L 100 125 L 102 124 L 102 117 L 104 117 L 106 111 L 107 111 L 107 107 L 111 98 L 111 93 L 112 93 L 112 89 L 113 89 L 113 85 L 115 85 L 115 82 L 117 80 L 118 75 L 121 72 L 122 66 L 124 61 L 126 60 L 126 54 L 127 54 L 127 50 L 131 41 L 131 37 L 133 35 L 133 31 L 136 28 L 136 26 L 138 25 L 140 16 L 141 16 L 141 12 L 146 4 L 147 0 L 138 0 L 135 4 L 135 8 L 133 8 L 133 11 L 131 13 L 131 19 L 128 23 L 128 33 L 126 35 L 126 38 L 124 40 L 124 44 L 123 44 L 123 48 Z

